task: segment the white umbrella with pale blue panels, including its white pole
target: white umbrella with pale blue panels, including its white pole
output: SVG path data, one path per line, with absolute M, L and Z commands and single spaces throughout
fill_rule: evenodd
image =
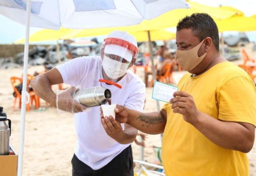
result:
M 186 0 L 0 0 L 0 14 L 26 24 L 18 176 L 22 176 L 29 27 L 96 28 L 138 24 L 176 8 Z M 30 22 L 31 18 L 31 22 Z

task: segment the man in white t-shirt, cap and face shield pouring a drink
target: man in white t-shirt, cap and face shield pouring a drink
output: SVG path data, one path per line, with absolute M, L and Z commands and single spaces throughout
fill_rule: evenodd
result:
M 128 176 L 133 175 L 131 143 L 137 130 L 112 119 L 100 119 L 100 106 L 87 107 L 72 99 L 76 86 L 81 89 L 102 86 L 111 91 L 112 103 L 142 111 L 145 84 L 128 70 L 136 61 L 138 52 L 134 36 L 114 31 L 104 40 L 100 56 L 87 56 L 70 60 L 39 75 L 31 82 L 38 96 L 60 110 L 74 112 L 77 135 L 72 158 L 73 176 Z M 113 84 L 99 82 L 104 79 Z M 56 96 L 50 86 L 66 83 L 72 87 Z M 78 113 L 76 113 L 78 112 Z M 110 121 L 111 120 L 111 121 Z

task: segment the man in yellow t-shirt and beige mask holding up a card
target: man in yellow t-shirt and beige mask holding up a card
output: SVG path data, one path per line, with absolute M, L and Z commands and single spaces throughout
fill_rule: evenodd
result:
M 148 134 L 164 133 L 167 176 L 248 176 L 246 153 L 256 126 L 254 82 L 220 56 L 218 28 L 208 14 L 183 18 L 176 44 L 177 62 L 189 73 L 174 98 L 160 112 L 117 106 L 116 120 Z

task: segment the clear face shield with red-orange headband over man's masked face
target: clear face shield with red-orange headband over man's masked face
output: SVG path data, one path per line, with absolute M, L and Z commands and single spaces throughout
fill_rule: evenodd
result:
M 102 76 L 104 80 L 117 82 L 126 74 L 138 48 L 119 38 L 106 38 L 100 50 Z

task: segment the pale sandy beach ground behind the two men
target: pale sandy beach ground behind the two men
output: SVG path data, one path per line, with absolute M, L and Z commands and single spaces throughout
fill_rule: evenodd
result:
M 12 120 L 12 136 L 10 142 L 18 152 L 20 109 L 16 105 L 13 111 L 13 89 L 10 83 L 11 76 L 22 75 L 21 68 L 0 70 L 0 100 L 8 118 Z M 43 71 L 43 66 L 28 68 L 28 73 Z M 140 75 L 141 76 L 141 75 Z M 65 85 L 66 86 L 66 85 Z M 53 87 L 56 90 L 56 86 Z M 146 105 L 144 112 L 156 111 L 156 101 L 151 98 L 152 88 L 146 89 Z M 24 142 L 24 176 L 70 176 L 72 175 L 71 158 L 74 154 L 76 136 L 72 114 L 58 113 L 55 108 L 46 105 L 41 100 L 45 109 L 31 110 L 26 113 L 25 142 Z M 164 103 L 160 102 L 160 107 Z M 152 146 L 161 146 L 160 135 L 148 135 L 144 160 L 154 163 L 155 156 Z M 139 147 L 132 144 L 134 159 L 139 159 Z M 248 153 L 250 160 L 250 176 L 256 176 L 256 144 Z M 138 170 L 138 166 L 135 168 Z

